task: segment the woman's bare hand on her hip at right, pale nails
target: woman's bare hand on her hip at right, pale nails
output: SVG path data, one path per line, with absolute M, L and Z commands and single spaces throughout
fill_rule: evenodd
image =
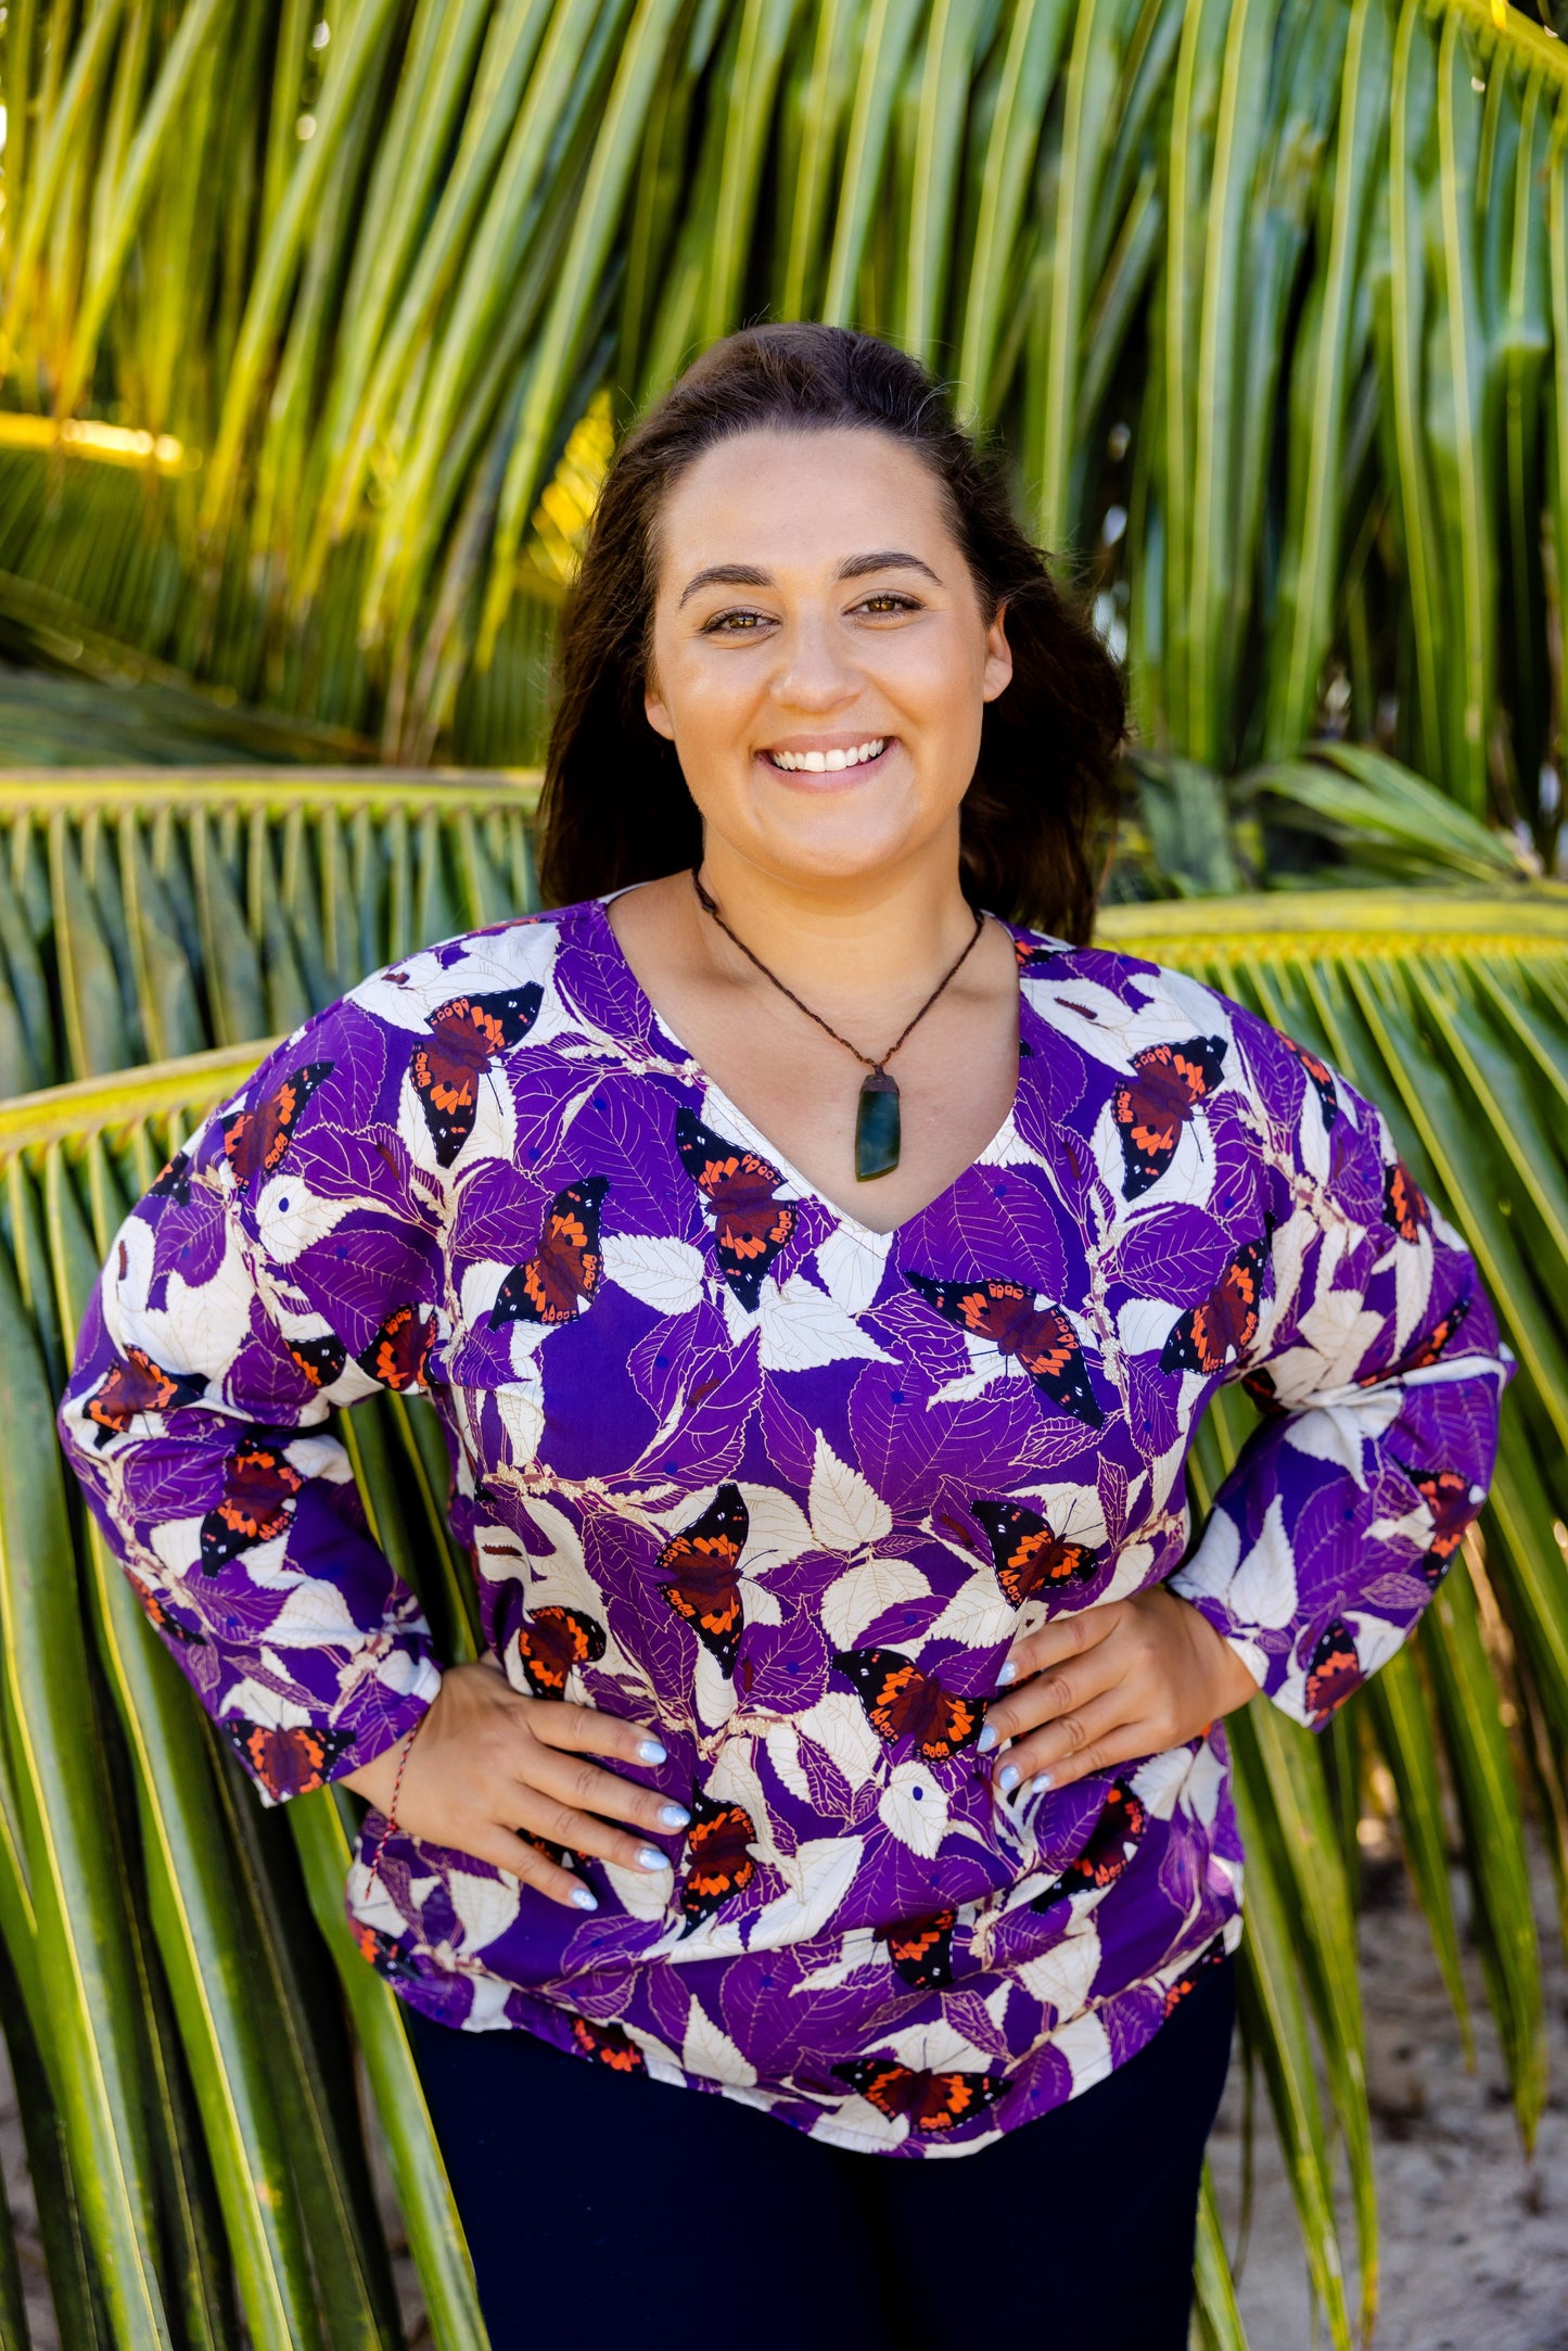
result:
M 1258 1695 L 1229 1641 L 1164 1585 L 1053 1617 L 1013 1643 L 999 1679 L 980 1751 L 1001 1796 L 1182 1747 Z

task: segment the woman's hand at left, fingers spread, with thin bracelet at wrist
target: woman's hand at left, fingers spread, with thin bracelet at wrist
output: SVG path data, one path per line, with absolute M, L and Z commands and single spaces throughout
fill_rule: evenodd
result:
M 378 1813 L 393 1801 L 402 1744 L 397 1740 L 371 1763 L 343 1773 L 343 1784 Z M 635 1831 L 672 1836 L 691 1815 L 668 1796 L 602 1770 L 595 1756 L 644 1770 L 668 1761 L 658 1733 L 639 1730 L 618 1714 L 571 1707 L 559 1697 L 524 1697 L 489 1662 L 449 1665 L 409 1749 L 397 1827 L 508 1869 L 552 1902 L 597 1909 L 581 1878 L 517 1831 L 592 1853 L 621 1869 L 658 1871 L 670 1869 L 668 1857 Z

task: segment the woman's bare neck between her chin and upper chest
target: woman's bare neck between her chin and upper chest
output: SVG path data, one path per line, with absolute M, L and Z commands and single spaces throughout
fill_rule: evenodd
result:
M 799 987 L 884 997 L 912 973 L 940 971 L 973 933 L 973 907 L 959 886 L 957 823 L 952 839 L 875 875 L 776 875 L 710 839 L 698 868 L 703 889 L 729 929 L 783 980 Z M 701 912 L 708 952 L 733 955 Z

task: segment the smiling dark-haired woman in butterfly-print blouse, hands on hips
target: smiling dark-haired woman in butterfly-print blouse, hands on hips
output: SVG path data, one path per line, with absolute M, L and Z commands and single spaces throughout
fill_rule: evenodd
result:
M 752 2351 L 1030 2339 L 1063 2276 L 1074 2342 L 1185 2351 L 1220 1719 L 1321 1728 L 1415 1625 L 1490 1307 L 1366 1100 L 1084 943 L 1121 689 L 910 360 L 712 350 L 609 468 L 564 658 L 574 903 L 374 973 L 209 1121 L 66 1444 L 266 1794 L 371 1801 L 350 1909 L 496 2351 L 684 2351 L 693 2229 Z M 447 1427 L 475 1665 L 324 1432 L 388 1387 Z

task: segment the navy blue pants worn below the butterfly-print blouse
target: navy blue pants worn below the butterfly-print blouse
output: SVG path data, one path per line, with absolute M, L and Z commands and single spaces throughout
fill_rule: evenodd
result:
M 773 2116 L 414 2017 L 494 2351 L 1187 2351 L 1234 1965 L 1093 2090 L 973 2156 Z

